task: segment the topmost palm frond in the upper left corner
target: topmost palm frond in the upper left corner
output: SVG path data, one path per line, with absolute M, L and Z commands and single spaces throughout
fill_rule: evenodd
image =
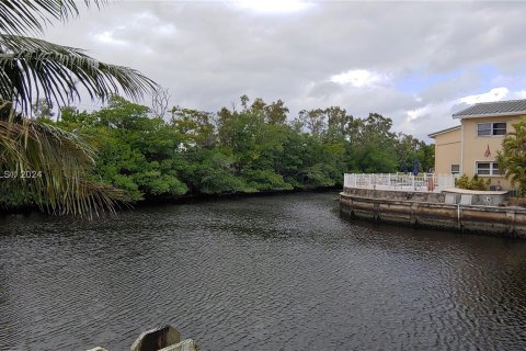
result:
M 42 33 L 52 20 L 66 21 L 79 14 L 76 0 L 1 0 L 0 33 Z M 101 7 L 106 0 L 84 0 L 85 7 L 92 3 Z

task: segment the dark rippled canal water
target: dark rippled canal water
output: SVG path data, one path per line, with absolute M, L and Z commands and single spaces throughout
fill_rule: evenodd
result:
M 352 223 L 336 193 L 0 219 L 0 350 L 525 350 L 526 240 Z

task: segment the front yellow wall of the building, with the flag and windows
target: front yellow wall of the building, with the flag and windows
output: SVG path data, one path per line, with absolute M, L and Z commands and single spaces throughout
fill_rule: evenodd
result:
M 476 172 L 476 162 L 494 162 L 496 159 L 496 154 L 502 148 L 502 140 L 505 135 L 492 135 L 492 136 L 478 136 L 477 135 L 477 125 L 479 123 L 490 123 L 490 122 L 506 122 L 506 133 L 513 131 L 512 124 L 517 123 L 522 116 L 496 116 L 496 117 L 473 117 L 473 118 L 462 118 L 462 143 L 464 147 L 461 148 L 461 161 L 462 167 L 460 172 L 473 177 Z M 485 157 L 485 151 L 490 148 L 491 156 Z M 510 182 L 502 176 L 483 176 L 480 177 L 484 180 L 490 180 L 490 185 L 501 185 L 502 189 L 511 189 Z

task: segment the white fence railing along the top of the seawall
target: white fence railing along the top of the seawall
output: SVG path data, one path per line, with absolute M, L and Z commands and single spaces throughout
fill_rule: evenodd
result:
M 405 173 L 345 173 L 343 186 L 386 190 L 415 190 L 441 192 L 455 188 L 455 174 L 405 174 Z

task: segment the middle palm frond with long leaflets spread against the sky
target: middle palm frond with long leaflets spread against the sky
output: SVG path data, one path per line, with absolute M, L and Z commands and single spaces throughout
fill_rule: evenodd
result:
M 139 71 L 100 63 L 79 48 L 19 35 L 0 35 L 0 98 L 24 114 L 41 98 L 59 106 L 80 99 L 78 86 L 102 101 L 119 89 L 137 100 L 158 88 Z

